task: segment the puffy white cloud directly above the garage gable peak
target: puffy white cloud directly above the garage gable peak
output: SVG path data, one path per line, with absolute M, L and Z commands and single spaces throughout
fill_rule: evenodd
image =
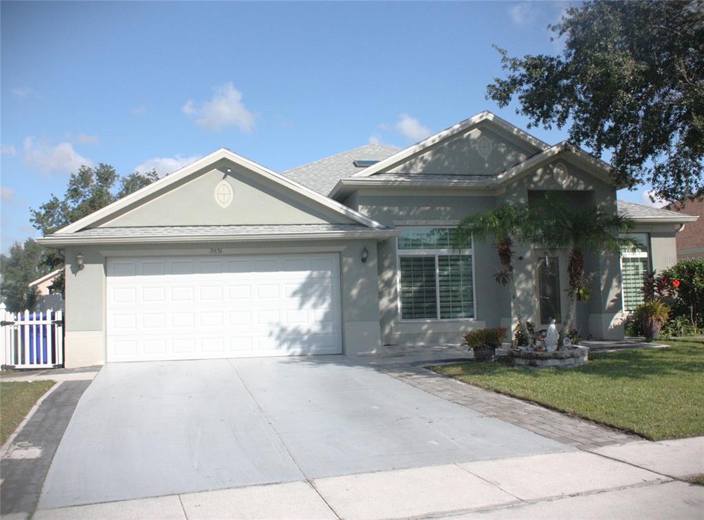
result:
M 235 89 L 232 82 L 215 87 L 215 94 L 210 101 L 196 103 L 189 99 L 181 108 L 184 114 L 196 116 L 196 124 L 213 132 L 223 128 L 235 127 L 240 132 L 251 132 L 255 116 L 242 103 L 242 94 Z

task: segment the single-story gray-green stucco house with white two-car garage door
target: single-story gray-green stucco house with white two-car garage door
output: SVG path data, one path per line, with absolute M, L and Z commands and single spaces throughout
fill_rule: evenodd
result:
M 677 259 L 696 217 L 616 200 L 609 167 L 483 112 L 405 150 L 371 144 L 276 173 L 221 148 L 40 241 L 66 261 L 65 362 L 353 355 L 457 343 L 513 324 L 489 243 L 451 251 L 466 215 L 543 191 L 625 213 L 644 247 L 592 254 L 582 334 L 623 336 L 641 272 Z M 534 322 L 566 312 L 563 252 L 516 251 Z

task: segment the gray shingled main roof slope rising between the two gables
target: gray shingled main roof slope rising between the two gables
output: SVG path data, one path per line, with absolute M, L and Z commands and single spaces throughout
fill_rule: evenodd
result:
M 300 182 L 303 186 L 308 186 L 319 194 L 327 195 L 340 179 L 347 179 L 365 170 L 356 167 L 353 164 L 355 160 L 383 160 L 398 151 L 398 148 L 391 148 L 391 146 L 367 144 L 334 156 L 315 160 L 313 163 L 291 168 L 291 170 L 282 172 L 282 175 Z

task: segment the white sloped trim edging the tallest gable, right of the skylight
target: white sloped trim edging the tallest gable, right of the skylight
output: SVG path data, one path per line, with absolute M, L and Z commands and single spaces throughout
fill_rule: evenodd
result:
M 438 132 L 437 134 L 428 137 L 427 139 L 423 139 L 422 141 L 417 144 L 414 144 L 413 146 L 408 146 L 408 148 L 399 151 L 393 156 L 385 158 L 384 160 L 379 161 L 379 163 L 372 165 L 366 168 L 365 170 L 362 170 L 361 172 L 356 173 L 354 177 L 370 177 L 372 175 L 376 175 L 377 173 L 382 172 L 383 170 L 386 170 L 389 167 L 393 167 L 394 165 L 401 163 L 403 160 L 406 160 L 411 156 L 415 156 L 418 153 L 422 153 L 422 151 L 425 151 L 431 146 L 439 144 L 441 141 L 446 141 L 447 139 L 450 139 L 456 134 L 460 134 L 460 132 L 465 132 L 467 131 L 467 129 L 479 125 L 479 123 L 481 122 L 489 122 L 490 124 L 495 125 L 496 127 L 502 129 L 504 132 L 508 132 L 509 134 L 512 134 L 513 136 L 531 145 L 536 149 L 536 151 L 546 151 L 548 148 L 551 148 L 551 146 L 548 145 L 546 142 L 541 141 L 540 139 L 532 136 L 527 132 L 524 132 L 522 129 L 515 125 L 511 125 L 510 122 L 499 118 L 498 115 L 489 112 L 489 110 L 484 110 L 484 112 L 480 112 L 477 115 L 473 115 L 471 118 L 465 119 L 462 122 L 458 122 L 457 125 L 453 125 L 447 129 L 444 129 L 441 132 Z

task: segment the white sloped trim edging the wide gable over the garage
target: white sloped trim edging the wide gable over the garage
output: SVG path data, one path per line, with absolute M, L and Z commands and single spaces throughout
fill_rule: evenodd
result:
M 134 205 L 138 205 L 139 201 L 142 201 L 142 199 L 146 199 L 151 194 L 154 194 L 155 192 L 158 192 L 160 190 L 164 190 L 165 188 L 168 188 L 168 186 L 170 186 L 171 184 L 176 184 L 184 177 L 188 177 L 189 175 L 192 175 L 195 172 L 198 172 L 199 170 L 206 169 L 208 166 L 215 164 L 219 160 L 223 159 L 230 160 L 232 161 L 232 163 L 244 167 L 250 172 L 253 172 L 257 175 L 261 175 L 262 177 L 265 177 L 265 179 L 268 179 L 269 181 L 274 182 L 275 184 L 283 186 L 285 189 L 293 190 L 297 194 L 310 199 L 310 201 L 313 201 L 320 205 L 324 205 L 330 210 L 333 210 L 334 212 L 337 212 L 340 215 L 344 215 L 345 217 L 348 217 L 351 220 L 363 224 L 364 226 L 375 229 L 386 229 L 383 224 L 380 224 L 379 222 L 376 222 L 375 220 L 372 220 L 369 217 L 366 217 L 365 215 L 362 215 L 361 213 L 358 213 L 357 211 L 348 208 L 346 205 L 343 205 L 337 201 L 333 201 L 332 199 L 327 198 L 326 196 L 319 194 L 318 192 L 313 191 L 312 189 L 303 186 L 302 184 L 298 184 L 298 182 L 295 182 L 290 177 L 284 177 L 283 175 L 273 172 L 272 170 L 269 170 L 268 168 L 263 167 L 262 165 L 258 165 L 252 160 L 237 155 L 237 153 L 234 153 L 228 150 L 227 148 L 220 148 L 219 150 L 216 150 L 213 153 L 210 153 L 207 156 L 194 161 L 194 163 L 182 167 L 180 170 L 173 172 L 171 175 L 158 179 L 157 181 L 149 184 L 149 186 L 145 186 L 144 188 L 135 191 L 133 194 L 122 197 L 119 201 L 115 201 L 112 204 L 107 205 L 105 208 L 101 208 L 100 210 L 97 210 L 94 213 L 87 215 L 87 217 L 83 217 L 82 219 L 73 222 L 73 224 L 69 224 L 68 226 L 63 227 L 62 229 L 59 229 L 56 234 L 65 236 L 65 234 L 78 232 L 81 229 L 89 227 L 91 224 L 95 224 L 96 222 L 104 222 L 109 219 L 112 215 L 117 215 L 120 210 L 131 206 L 133 207 Z M 50 237 L 44 237 L 43 239 L 39 239 L 39 242 L 49 243 L 49 238 Z

